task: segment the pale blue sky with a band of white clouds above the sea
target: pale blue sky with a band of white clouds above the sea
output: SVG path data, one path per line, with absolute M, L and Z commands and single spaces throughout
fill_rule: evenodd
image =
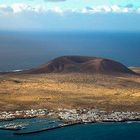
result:
M 140 0 L 0 0 L 0 30 L 140 31 Z

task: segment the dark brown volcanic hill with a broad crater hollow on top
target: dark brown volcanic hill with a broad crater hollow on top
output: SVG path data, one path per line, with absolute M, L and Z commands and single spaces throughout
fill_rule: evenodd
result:
M 136 74 L 123 64 L 109 59 L 86 56 L 62 56 L 48 64 L 26 71 L 29 74 L 41 73 L 99 73 L 99 74 Z

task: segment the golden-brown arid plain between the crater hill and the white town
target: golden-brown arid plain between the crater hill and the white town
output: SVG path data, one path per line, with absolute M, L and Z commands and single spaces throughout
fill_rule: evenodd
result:
M 140 72 L 140 68 L 132 68 Z M 140 76 L 1 74 L 0 111 L 98 108 L 140 111 Z

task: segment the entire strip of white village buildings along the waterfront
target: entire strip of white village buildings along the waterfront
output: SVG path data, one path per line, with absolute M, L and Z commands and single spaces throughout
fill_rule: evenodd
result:
M 139 112 L 100 111 L 98 109 L 31 109 L 24 111 L 0 112 L 0 121 L 23 118 L 59 118 L 62 122 L 123 122 L 139 121 Z

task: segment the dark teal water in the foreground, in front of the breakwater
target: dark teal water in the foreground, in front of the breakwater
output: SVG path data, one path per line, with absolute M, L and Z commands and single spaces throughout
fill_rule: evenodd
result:
M 22 120 L 34 122 L 30 130 L 43 127 L 38 120 Z M 45 120 L 42 124 L 45 125 Z M 27 131 L 27 130 L 23 130 Z M 14 136 L 11 131 L 0 130 L 0 140 L 140 140 L 140 123 L 100 123 L 76 125 L 26 136 Z

